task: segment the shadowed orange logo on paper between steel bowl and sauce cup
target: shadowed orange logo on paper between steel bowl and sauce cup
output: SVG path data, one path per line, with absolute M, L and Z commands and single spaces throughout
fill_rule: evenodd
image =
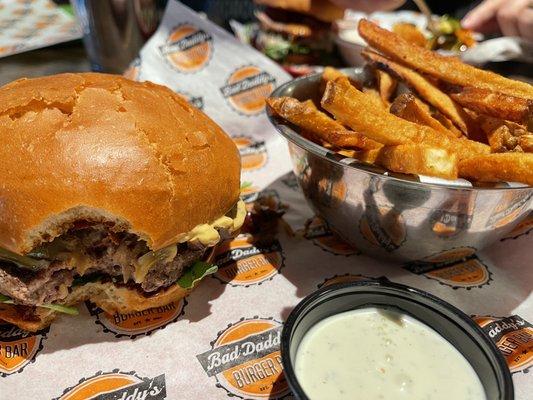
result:
M 458 247 L 413 261 L 405 269 L 454 289 L 482 287 L 491 281 L 488 267 L 473 247 Z

